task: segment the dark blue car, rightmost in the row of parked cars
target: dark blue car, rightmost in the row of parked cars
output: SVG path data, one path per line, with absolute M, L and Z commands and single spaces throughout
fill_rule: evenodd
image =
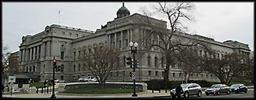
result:
M 240 92 L 247 93 L 248 88 L 243 84 L 233 84 L 230 86 L 231 92 L 236 92 L 239 94 Z

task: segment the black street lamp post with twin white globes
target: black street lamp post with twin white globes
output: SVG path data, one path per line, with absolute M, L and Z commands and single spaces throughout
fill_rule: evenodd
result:
M 135 42 L 134 45 L 132 43 L 132 41 L 129 43 L 129 45 L 131 46 L 131 53 L 133 54 L 133 59 L 134 61 L 136 61 L 135 59 L 135 54 L 137 54 L 137 46 L 138 46 L 138 43 Z M 135 47 L 135 49 L 132 49 L 132 46 Z M 133 63 L 133 73 L 135 73 L 135 63 Z M 136 94 L 136 87 L 135 87 L 135 80 L 136 78 L 134 78 L 133 80 L 133 94 L 132 94 L 132 97 L 137 97 L 138 95 Z

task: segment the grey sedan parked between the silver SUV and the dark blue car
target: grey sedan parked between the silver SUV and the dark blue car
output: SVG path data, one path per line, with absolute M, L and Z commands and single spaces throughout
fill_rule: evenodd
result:
M 220 94 L 224 94 L 224 93 L 227 95 L 230 94 L 230 87 L 228 87 L 225 84 L 214 84 L 205 90 L 206 96 L 209 96 L 209 94 L 220 95 Z

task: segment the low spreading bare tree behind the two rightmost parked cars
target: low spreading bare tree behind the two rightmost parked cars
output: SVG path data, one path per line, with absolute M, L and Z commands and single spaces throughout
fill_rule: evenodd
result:
M 204 59 L 203 70 L 216 75 L 221 83 L 229 84 L 234 76 L 239 75 L 246 68 L 244 55 L 232 53 L 222 58 L 216 55 L 216 52 L 212 50 L 208 57 L 202 58 Z

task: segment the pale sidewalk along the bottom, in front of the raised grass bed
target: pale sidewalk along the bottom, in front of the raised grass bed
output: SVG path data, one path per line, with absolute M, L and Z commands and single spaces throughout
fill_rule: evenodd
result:
M 248 91 L 254 89 L 248 89 Z M 56 98 L 127 98 L 132 97 L 133 93 L 129 94 L 66 94 L 61 92 L 55 92 Z M 147 92 L 138 92 L 138 97 L 168 97 L 170 96 L 170 90 L 165 93 L 165 90 L 147 90 Z M 203 92 L 205 94 L 205 92 Z M 50 98 L 52 94 L 12 94 L 12 97 L 17 98 Z M 11 97 L 10 94 L 3 95 L 3 97 Z

